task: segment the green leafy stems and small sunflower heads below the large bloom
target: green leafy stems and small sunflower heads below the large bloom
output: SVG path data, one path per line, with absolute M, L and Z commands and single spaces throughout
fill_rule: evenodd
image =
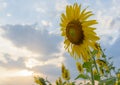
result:
M 111 62 L 112 57 L 107 59 L 107 56 L 104 54 L 104 52 L 102 50 L 101 52 L 101 57 L 97 58 L 95 55 L 98 53 L 98 51 L 93 50 L 91 52 L 91 59 L 87 62 L 81 62 L 83 63 L 81 65 L 84 69 L 84 72 L 78 74 L 74 81 L 70 81 L 70 78 L 68 80 L 63 78 L 63 74 L 65 72 L 64 70 L 66 70 L 66 67 L 63 65 L 61 71 L 62 75 L 58 80 L 56 80 L 56 85 L 76 85 L 76 81 L 79 81 L 80 79 L 87 81 L 89 80 L 91 81 L 92 85 L 94 85 L 95 81 L 98 81 L 98 85 L 119 85 L 120 69 L 116 70 L 113 62 Z M 69 77 L 69 75 L 67 76 Z M 41 77 L 35 78 L 35 82 L 39 85 L 52 85 L 47 79 L 45 80 Z M 83 84 L 82 82 L 79 82 L 79 85 L 91 85 L 91 83 Z

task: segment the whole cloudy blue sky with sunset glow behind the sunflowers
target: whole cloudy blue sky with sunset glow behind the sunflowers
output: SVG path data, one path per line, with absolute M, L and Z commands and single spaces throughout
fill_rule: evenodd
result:
M 34 73 L 54 82 L 61 63 L 76 76 L 59 26 L 66 5 L 75 2 L 93 11 L 99 42 L 120 67 L 119 0 L 0 0 L 0 85 L 35 85 Z

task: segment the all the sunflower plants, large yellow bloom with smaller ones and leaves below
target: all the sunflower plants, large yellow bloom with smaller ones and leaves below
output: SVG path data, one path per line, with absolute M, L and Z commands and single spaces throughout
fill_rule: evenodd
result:
M 56 85 L 120 85 L 120 69 L 116 70 L 111 58 L 107 58 L 99 43 L 99 36 L 93 27 L 96 20 L 89 20 L 92 11 L 82 9 L 77 3 L 66 6 L 66 13 L 61 14 L 61 35 L 64 48 L 75 59 L 78 76 L 72 81 L 70 71 L 62 64 L 61 76 Z M 86 83 L 79 80 L 89 81 Z M 47 79 L 34 77 L 38 85 L 52 85 Z

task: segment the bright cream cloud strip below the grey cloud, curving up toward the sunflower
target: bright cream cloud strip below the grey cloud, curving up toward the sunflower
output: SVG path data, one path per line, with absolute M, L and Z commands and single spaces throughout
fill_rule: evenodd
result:
M 25 62 L 26 67 L 33 68 L 35 66 L 44 66 L 44 65 L 54 65 L 56 67 L 60 67 L 61 63 L 63 63 L 65 61 L 65 56 L 64 56 L 65 50 L 64 50 L 63 43 L 61 43 L 58 48 L 59 48 L 60 52 L 52 53 L 51 55 L 49 55 L 49 57 L 52 56 L 51 59 L 43 61 L 41 59 L 38 60 L 37 58 L 36 59 L 28 58 Z M 46 57 L 46 56 L 44 56 L 44 57 Z M 47 57 L 47 58 L 49 58 L 49 57 Z

